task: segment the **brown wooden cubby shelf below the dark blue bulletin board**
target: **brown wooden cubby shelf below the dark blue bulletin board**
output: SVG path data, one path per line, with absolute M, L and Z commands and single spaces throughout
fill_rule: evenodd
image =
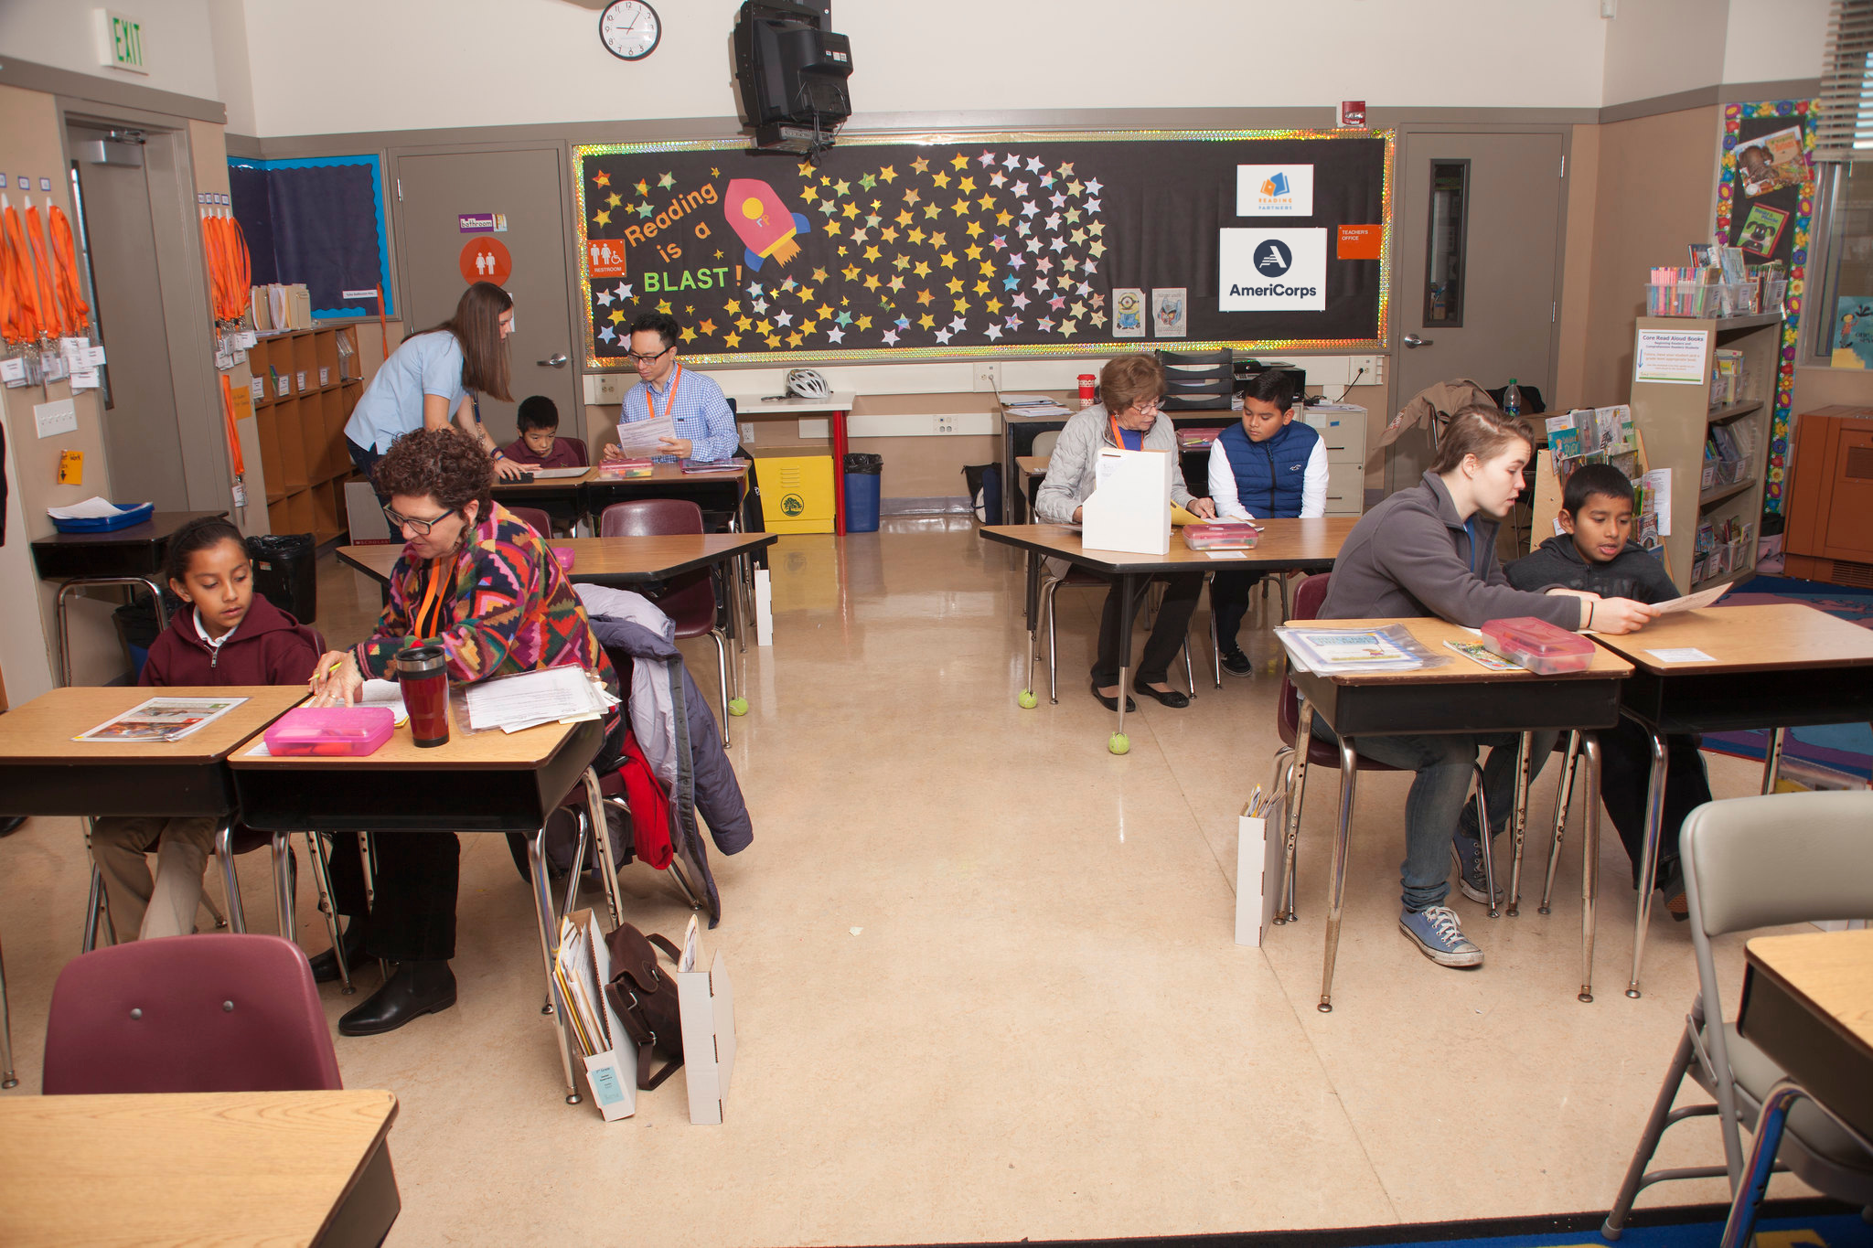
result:
M 262 333 L 247 367 L 268 528 L 318 543 L 343 535 L 352 475 L 345 421 L 363 393 L 356 326 Z

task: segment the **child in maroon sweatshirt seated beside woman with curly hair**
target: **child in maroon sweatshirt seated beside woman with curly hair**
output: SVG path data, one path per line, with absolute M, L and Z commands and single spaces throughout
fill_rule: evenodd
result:
M 185 524 L 169 543 L 169 589 L 184 606 L 150 646 L 139 685 L 305 685 L 324 651 L 313 629 L 253 591 L 240 530 Z M 214 820 L 112 816 L 92 821 L 92 861 L 116 937 L 187 936 L 214 851 Z M 144 855 L 155 853 L 155 878 Z

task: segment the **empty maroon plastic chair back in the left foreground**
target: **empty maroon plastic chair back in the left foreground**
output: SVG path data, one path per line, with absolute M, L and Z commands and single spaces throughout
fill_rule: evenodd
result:
M 313 969 L 277 936 L 170 936 L 66 964 L 45 1095 L 341 1089 Z

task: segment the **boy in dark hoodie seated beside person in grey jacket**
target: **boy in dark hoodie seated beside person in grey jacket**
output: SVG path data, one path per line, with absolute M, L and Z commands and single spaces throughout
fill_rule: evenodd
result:
M 1502 573 L 1517 589 L 1579 589 L 1603 599 L 1667 602 L 1678 586 L 1665 574 L 1658 554 L 1631 539 L 1633 483 L 1611 464 L 1583 464 L 1568 475 L 1560 492 L 1558 537 L 1549 537 L 1534 552 L 1510 563 Z M 1710 776 L 1701 739 L 1693 733 L 1665 737 L 1665 808 L 1658 829 L 1656 887 L 1665 911 L 1691 917 L 1678 866 L 1678 825 L 1684 816 L 1710 801 Z M 1639 883 L 1639 857 L 1644 849 L 1644 805 L 1652 780 L 1652 739 L 1630 718 L 1600 733 L 1600 801 L 1620 831 L 1626 855 Z M 1463 816 L 1465 831 L 1476 827 L 1476 808 Z M 1474 836 L 1474 833 L 1470 833 Z

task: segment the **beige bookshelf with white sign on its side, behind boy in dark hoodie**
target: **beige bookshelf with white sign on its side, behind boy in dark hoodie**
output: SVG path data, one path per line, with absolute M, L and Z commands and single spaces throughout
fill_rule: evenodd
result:
M 1665 550 L 1673 576 L 1688 591 L 1744 578 L 1755 569 L 1762 520 L 1781 314 L 1721 320 L 1641 316 L 1637 335 L 1646 331 L 1703 333 L 1704 339 L 1706 384 L 1643 382 L 1637 369 L 1633 374 L 1633 425 L 1644 438 L 1646 458 L 1652 468 L 1671 470 L 1671 535 L 1665 537 Z M 1708 385 L 1719 350 L 1738 352 L 1742 357 L 1742 384 L 1727 402 L 1712 402 Z M 1721 466 L 1706 481 L 1704 443 L 1714 436 L 1742 447 L 1748 458 L 1738 466 Z M 1699 552 L 1697 533 L 1703 526 L 1712 531 L 1729 528 L 1733 535 L 1714 550 Z

